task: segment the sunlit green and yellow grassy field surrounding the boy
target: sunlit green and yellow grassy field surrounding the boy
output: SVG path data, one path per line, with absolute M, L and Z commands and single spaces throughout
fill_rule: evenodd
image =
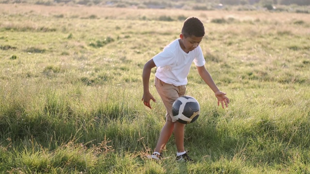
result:
M 175 162 L 173 136 L 147 160 L 165 109 L 152 85 L 154 108 L 141 102 L 142 68 L 192 15 L 231 104 L 217 107 L 193 65 L 197 162 Z M 309 70 L 310 14 L 1 4 L 0 173 L 309 174 Z

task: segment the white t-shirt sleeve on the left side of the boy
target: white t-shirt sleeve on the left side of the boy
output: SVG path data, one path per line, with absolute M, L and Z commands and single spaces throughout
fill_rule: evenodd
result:
M 153 57 L 153 61 L 157 68 L 165 67 L 173 64 L 174 56 L 173 53 L 169 50 L 163 50 Z

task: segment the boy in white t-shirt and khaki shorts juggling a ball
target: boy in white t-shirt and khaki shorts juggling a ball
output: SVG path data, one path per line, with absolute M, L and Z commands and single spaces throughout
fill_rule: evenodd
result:
M 172 116 L 172 103 L 177 98 L 185 95 L 187 75 L 192 62 L 195 63 L 203 81 L 214 91 L 217 97 L 217 105 L 221 103 L 222 108 L 224 108 L 224 104 L 228 107 L 229 99 L 225 96 L 226 93 L 221 92 L 217 88 L 211 75 L 204 67 L 205 60 L 202 55 L 202 49 L 199 46 L 204 34 L 202 21 L 197 17 L 187 18 L 184 21 L 180 38 L 171 42 L 161 53 L 155 55 L 144 65 L 142 73 L 142 101 L 144 105 L 152 108 L 150 101 L 156 102 L 149 91 L 149 80 L 151 69 L 157 67 L 155 87 L 167 110 L 166 123 L 160 132 L 155 151 L 151 156 L 153 159 L 161 159 L 161 152 L 173 132 L 177 148 L 176 160 L 193 161 L 188 157 L 184 149 L 185 124 L 174 120 Z

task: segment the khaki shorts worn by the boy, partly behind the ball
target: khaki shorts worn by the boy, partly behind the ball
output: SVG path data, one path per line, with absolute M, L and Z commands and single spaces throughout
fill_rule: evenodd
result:
M 159 78 L 155 77 L 155 87 L 166 107 L 166 121 L 175 122 L 176 120 L 173 119 L 172 115 L 172 104 L 176 99 L 185 95 L 186 86 L 182 85 L 177 87 L 171 84 L 167 84 L 161 81 Z

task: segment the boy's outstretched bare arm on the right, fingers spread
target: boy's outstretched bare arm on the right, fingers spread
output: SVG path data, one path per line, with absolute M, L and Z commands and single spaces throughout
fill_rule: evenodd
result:
M 215 96 L 217 97 L 217 105 L 219 106 L 219 103 L 222 104 L 222 108 L 224 108 L 224 103 L 226 107 L 228 107 L 229 99 L 225 96 L 226 93 L 221 92 L 217 85 L 214 83 L 210 73 L 205 69 L 204 66 L 197 66 L 197 70 L 199 75 L 202 77 L 203 81 L 213 90 L 215 93 Z

